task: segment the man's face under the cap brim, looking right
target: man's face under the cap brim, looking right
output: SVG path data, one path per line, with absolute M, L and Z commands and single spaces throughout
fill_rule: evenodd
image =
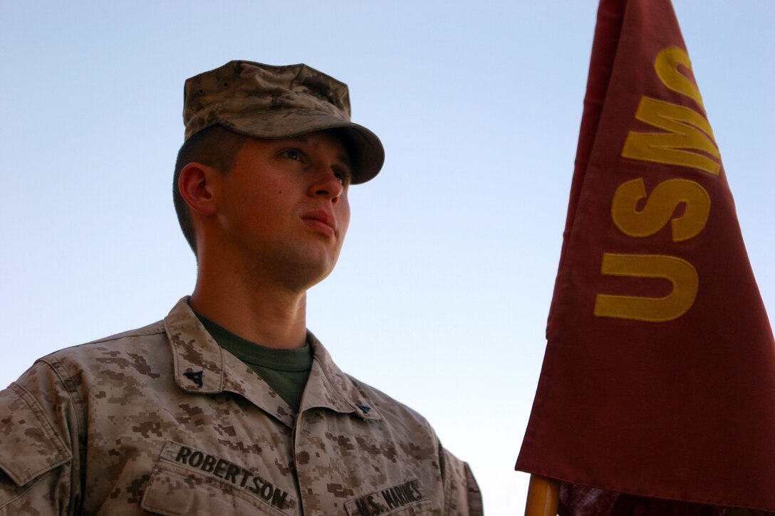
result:
M 224 267 L 296 289 L 328 276 L 350 224 L 350 176 L 332 132 L 248 139 L 220 186 Z

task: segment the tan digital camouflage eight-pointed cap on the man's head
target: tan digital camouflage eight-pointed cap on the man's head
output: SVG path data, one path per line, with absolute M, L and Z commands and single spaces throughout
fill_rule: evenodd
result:
M 186 81 L 185 139 L 215 124 L 254 138 L 342 129 L 353 160 L 353 183 L 379 173 L 384 150 L 374 132 L 350 122 L 347 85 L 306 64 L 272 66 L 230 61 Z

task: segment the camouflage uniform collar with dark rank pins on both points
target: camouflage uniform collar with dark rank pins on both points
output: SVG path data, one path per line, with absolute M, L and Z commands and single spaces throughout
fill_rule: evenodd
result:
M 182 390 L 197 394 L 224 391 L 239 394 L 285 425 L 294 425 L 296 414 L 288 404 L 250 367 L 212 339 L 188 306 L 188 296 L 177 301 L 164 318 L 164 329 L 172 350 L 175 381 Z M 301 398 L 301 410 L 329 408 L 363 419 L 380 419 L 367 397 L 333 363 L 315 335 L 307 332 L 307 338 L 314 360 Z

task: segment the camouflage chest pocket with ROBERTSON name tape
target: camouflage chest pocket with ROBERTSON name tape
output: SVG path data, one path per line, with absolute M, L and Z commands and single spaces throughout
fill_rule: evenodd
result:
M 177 442 L 167 442 L 140 507 L 166 516 L 293 516 L 297 502 L 252 470 Z

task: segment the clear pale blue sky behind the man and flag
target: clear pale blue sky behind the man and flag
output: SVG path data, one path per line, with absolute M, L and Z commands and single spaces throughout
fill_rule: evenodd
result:
M 674 3 L 772 315 L 775 2 Z M 429 418 L 488 514 L 522 514 L 528 476 L 514 463 L 596 9 L 0 0 L 0 384 L 191 292 L 171 200 L 183 81 L 232 59 L 303 62 L 350 85 L 353 119 L 387 151 L 350 191 L 343 256 L 309 294 L 309 328 L 344 370 Z

